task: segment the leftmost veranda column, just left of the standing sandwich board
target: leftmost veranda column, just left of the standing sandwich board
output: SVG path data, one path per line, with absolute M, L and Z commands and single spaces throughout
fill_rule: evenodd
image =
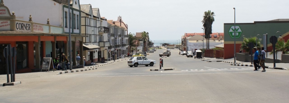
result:
M 36 60 L 35 60 L 35 64 L 36 64 L 36 66 L 35 66 L 35 68 L 36 69 L 41 69 L 41 58 L 40 58 L 40 43 L 41 41 L 40 41 L 40 36 L 38 36 L 38 42 L 34 42 L 34 44 L 35 44 L 35 58 L 36 58 Z

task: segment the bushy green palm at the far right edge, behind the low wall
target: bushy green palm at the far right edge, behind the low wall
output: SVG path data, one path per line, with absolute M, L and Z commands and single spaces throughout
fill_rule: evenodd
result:
M 282 51 L 282 54 L 289 54 L 289 39 L 287 42 L 284 40 L 278 41 L 277 44 L 275 45 L 275 53 L 277 51 Z M 270 55 L 273 54 L 273 50 L 270 52 Z

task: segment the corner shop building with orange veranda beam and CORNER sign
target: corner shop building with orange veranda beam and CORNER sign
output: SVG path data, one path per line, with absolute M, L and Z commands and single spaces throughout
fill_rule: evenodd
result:
M 0 20 L 2 23 L 5 23 L 5 26 L 0 27 L 0 49 L 2 49 L 0 51 L 3 51 L 3 48 L 6 47 L 8 44 L 11 44 L 12 47 L 16 47 L 18 54 L 16 60 L 16 73 L 25 73 L 32 72 L 34 70 L 40 70 L 43 57 L 52 57 L 54 59 L 55 57 L 60 56 L 61 52 L 68 54 L 69 35 L 65 30 L 65 25 L 62 24 L 63 22 L 61 22 L 62 20 L 64 20 L 61 18 L 65 17 L 65 7 L 68 7 L 66 4 L 52 0 L 44 0 L 43 2 L 37 2 L 33 5 L 27 3 L 27 1 L 21 0 L 7 1 L 5 2 L 5 5 L 3 0 L 1 0 L 1 3 L 3 3 L 0 7 L 3 13 L 2 15 L 0 15 Z M 38 5 L 46 5 L 46 7 L 40 8 L 40 10 L 30 10 L 30 8 Z M 23 9 L 20 10 L 18 8 Z M 43 17 L 43 15 L 41 15 L 41 13 L 43 13 L 42 11 L 49 11 L 50 8 L 60 9 L 55 10 L 55 14 L 50 14 L 50 16 Z M 72 10 L 73 9 L 75 8 L 72 7 Z M 10 11 L 12 10 L 13 12 L 11 14 Z M 32 17 L 32 15 L 30 14 L 35 15 L 33 15 Z M 48 19 L 49 17 L 52 17 L 51 15 L 53 15 L 54 18 L 58 19 Z M 20 20 L 18 20 L 18 18 Z M 77 24 L 76 19 L 71 19 L 71 22 Z M 78 24 L 80 24 L 80 20 Z M 75 57 L 76 54 L 82 55 L 82 52 L 80 51 L 83 48 L 80 45 L 82 45 L 82 38 L 84 36 L 81 36 L 79 34 L 79 31 L 74 30 L 74 28 L 77 28 L 77 25 L 72 25 L 71 27 L 71 30 L 74 31 L 74 33 L 72 33 L 71 35 L 73 51 L 71 56 L 72 58 L 74 58 L 72 61 L 73 65 L 74 67 L 76 67 Z M 0 57 L 0 59 L 0 71 L 2 74 L 4 71 L 2 67 L 5 67 L 6 65 L 3 63 L 4 58 L 2 56 Z

